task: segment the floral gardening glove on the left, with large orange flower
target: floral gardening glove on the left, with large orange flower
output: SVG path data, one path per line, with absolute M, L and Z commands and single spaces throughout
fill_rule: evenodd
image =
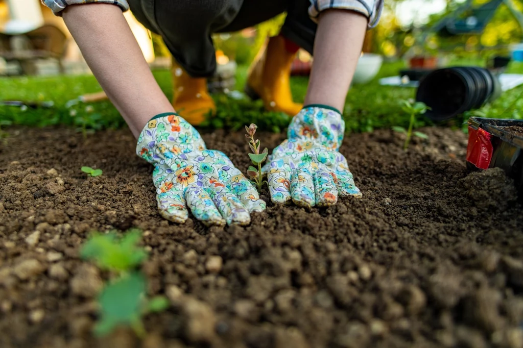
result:
M 265 202 L 224 153 L 208 150 L 198 131 L 176 114 L 153 118 L 138 137 L 137 154 L 155 165 L 160 214 L 184 223 L 192 215 L 206 225 L 251 223 Z

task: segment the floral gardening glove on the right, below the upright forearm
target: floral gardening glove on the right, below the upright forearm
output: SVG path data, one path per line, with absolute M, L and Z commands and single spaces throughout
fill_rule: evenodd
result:
M 347 160 L 338 152 L 344 131 L 345 122 L 335 109 L 303 108 L 289 125 L 288 139 L 263 167 L 272 202 L 292 200 L 311 207 L 333 205 L 338 196 L 360 198 Z

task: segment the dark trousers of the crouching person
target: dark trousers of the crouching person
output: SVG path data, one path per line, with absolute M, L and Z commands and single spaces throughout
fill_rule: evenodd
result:
M 128 0 L 134 16 L 160 34 L 176 61 L 193 77 L 216 69 L 211 34 L 252 27 L 287 12 L 281 34 L 312 54 L 316 24 L 309 0 Z

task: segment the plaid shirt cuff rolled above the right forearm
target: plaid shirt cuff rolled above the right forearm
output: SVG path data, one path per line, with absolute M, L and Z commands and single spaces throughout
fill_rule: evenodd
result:
M 383 9 L 383 0 L 310 0 L 309 15 L 316 21 L 321 11 L 329 8 L 356 11 L 369 18 L 369 28 L 378 25 Z

